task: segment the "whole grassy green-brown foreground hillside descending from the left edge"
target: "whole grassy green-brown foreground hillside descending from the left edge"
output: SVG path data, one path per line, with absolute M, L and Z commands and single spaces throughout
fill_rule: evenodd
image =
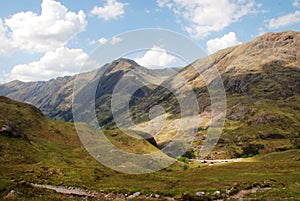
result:
M 80 145 L 72 123 L 48 120 L 32 105 L 0 97 L 0 122 L 1 200 L 125 199 L 137 192 L 137 200 L 300 196 L 299 150 L 219 165 L 178 162 L 159 172 L 130 175 L 99 164 Z M 149 143 L 129 139 L 118 130 L 105 134 L 127 152 L 155 151 Z M 72 193 L 39 187 L 46 184 Z M 253 192 L 243 193 L 249 190 Z M 204 195 L 199 197 L 199 192 Z

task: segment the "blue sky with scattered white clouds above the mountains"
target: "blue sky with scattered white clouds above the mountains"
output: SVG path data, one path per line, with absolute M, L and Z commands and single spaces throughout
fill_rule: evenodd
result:
M 267 33 L 300 30 L 300 0 L 0 0 L 0 83 L 74 75 L 122 34 L 158 28 L 209 55 Z M 136 39 L 138 41 L 138 38 Z M 199 57 L 202 55 L 199 54 Z M 153 44 L 128 58 L 148 68 L 183 65 Z M 117 58 L 115 58 L 117 59 Z

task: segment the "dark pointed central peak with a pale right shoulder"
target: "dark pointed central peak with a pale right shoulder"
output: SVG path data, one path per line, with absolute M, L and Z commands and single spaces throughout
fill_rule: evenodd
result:
M 97 72 L 94 76 L 90 76 L 90 80 L 83 84 L 84 87 L 78 91 L 78 96 L 83 97 L 82 115 L 86 113 L 89 105 L 95 104 L 96 115 L 100 126 L 105 128 L 114 128 L 114 121 L 111 110 L 112 94 L 114 96 L 124 93 L 130 93 L 132 89 L 137 89 L 130 93 L 130 104 L 135 104 L 143 97 L 147 96 L 160 83 L 175 74 L 173 69 L 151 70 L 138 65 L 136 62 L 128 59 L 118 59 L 110 64 L 100 68 L 101 72 Z M 78 75 L 77 82 L 84 83 L 85 76 Z M 83 81 L 81 81 L 83 80 Z M 82 84 L 80 84 L 81 86 Z M 96 87 L 93 87 L 96 86 Z M 119 87 L 120 91 L 114 91 Z M 96 89 L 96 90 L 95 90 Z M 80 95 L 80 93 L 83 93 Z M 86 94 L 95 94 L 94 97 L 88 99 Z M 118 110 L 123 110 L 123 105 L 115 106 Z M 80 114 L 79 114 L 80 115 Z M 88 114 L 88 116 L 90 116 Z

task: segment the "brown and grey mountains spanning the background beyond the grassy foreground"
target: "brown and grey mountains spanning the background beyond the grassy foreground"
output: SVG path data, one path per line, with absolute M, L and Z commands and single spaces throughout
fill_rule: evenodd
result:
M 299 32 L 268 33 L 251 42 L 218 51 L 181 69 L 179 74 L 196 94 L 200 106 L 199 118 L 203 120 L 191 151 L 197 155 L 207 137 L 211 115 L 207 86 L 213 84 L 215 78 L 206 78 L 210 80 L 207 83 L 199 75 L 199 70 L 205 73 L 212 67 L 218 69 L 223 79 L 227 116 L 223 134 L 210 154 L 211 158 L 240 157 L 299 146 L 299 47 Z M 165 126 L 155 136 L 158 145 L 165 146 L 174 137 L 180 107 L 176 96 L 158 85 L 172 83 L 174 73 L 171 69 L 150 70 L 128 59 L 115 60 L 90 72 L 95 77 L 89 85 L 96 84 L 98 87 L 95 100 L 89 101 L 96 103 L 99 124 L 107 129 L 115 128 L 110 109 L 111 95 L 116 84 L 126 75 L 126 87 L 144 86 L 131 98 L 130 111 L 136 123 L 135 129 L 151 134 L 147 130 L 148 113 L 154 105 L 164 106 L 168 113 Z M 31 103 L 49 118 L 72 121 L 74 80 L 75 76 L 47 82 L 13 81 L 0 85 L 0 95 Z

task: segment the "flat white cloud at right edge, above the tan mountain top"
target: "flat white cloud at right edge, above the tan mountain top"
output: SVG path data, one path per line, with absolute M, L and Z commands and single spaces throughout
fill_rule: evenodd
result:
M 278 29 L 280 27 L 297 23 L 300 23 L 300 11 L 295 11 L 294 13 L 290 13 L 278 18 L 273 18 L 270 20 L 268 27 L 270 29 Z

